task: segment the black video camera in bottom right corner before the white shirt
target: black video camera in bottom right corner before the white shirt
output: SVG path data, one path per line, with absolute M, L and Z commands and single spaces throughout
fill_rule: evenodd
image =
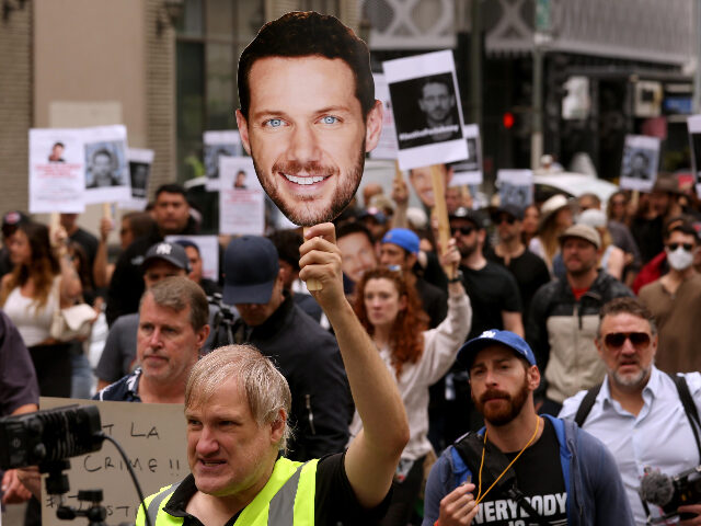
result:
M 675 477 L 646 466 L 639 492 L 643 502 L 655 504 L 665 512 L 662 517 L 648 518 L 648 524 L 660 523 L 677 515 L 682 521 L 693 518 L 694 514 L 679 514 L 677 510 L 686 504 L 701 503 L 701 466 L 682 471 Z

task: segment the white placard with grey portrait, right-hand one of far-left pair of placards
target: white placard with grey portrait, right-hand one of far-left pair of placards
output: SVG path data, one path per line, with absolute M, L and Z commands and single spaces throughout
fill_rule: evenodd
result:
M 127 128 L 123 125 L 82 128 L 85 141 L 85 204 L 131 198 L 127 161 Z

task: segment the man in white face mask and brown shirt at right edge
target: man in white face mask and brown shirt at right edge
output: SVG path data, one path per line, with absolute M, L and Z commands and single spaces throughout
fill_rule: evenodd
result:
M 693 267 L 699 237 L 688 221 L 671 224 L 664 237 L 669 272 L 640 290 L 659 328 L 657 367 L 666 373 L 701 370 L 701 275 Z

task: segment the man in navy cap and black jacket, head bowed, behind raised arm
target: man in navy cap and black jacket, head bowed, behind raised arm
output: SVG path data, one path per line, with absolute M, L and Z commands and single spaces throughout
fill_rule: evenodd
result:
M 290 386 L 295 436 L 289 458 L 302 461 L 343 450 L 353 401 L 338 344 L 285 290 L 273 242 L 258 236 L 232 240 L 223 274 L 223 301 L 240 315 L 231 343 L 249 343 L 273 358 Z

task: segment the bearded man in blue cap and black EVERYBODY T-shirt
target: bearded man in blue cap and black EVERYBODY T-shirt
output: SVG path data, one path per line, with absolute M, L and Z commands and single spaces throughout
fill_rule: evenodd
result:
M 497 329 L 467 342 L 458 362 L 485 426 L 448 447 L 426 485 L 424 526 L 632 525 L 613 457 L 572 422 L 539 416 L 540 371 L 519 335 Z

